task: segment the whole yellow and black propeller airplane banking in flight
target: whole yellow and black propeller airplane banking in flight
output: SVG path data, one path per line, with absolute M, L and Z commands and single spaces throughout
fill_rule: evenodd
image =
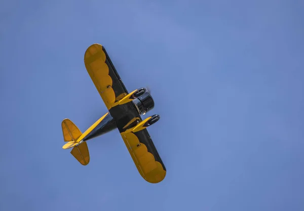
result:
M 154 108 L 150 93 L 145 88 L 128 93 L 105 48 L 99 44 L 87 49 L 84 62 L 108 112 L 85 133 L 71 120 L 64 119 L 61 126 L 67 143 L 62 148 L 72 148 L 70 153 L 87 165 L 90 154 L 86 141 L 118 129 L 142 178 L 149 183 L 163 181 L 166 167 L 146 129 L 160 116 L 156 114 L 144 120 L 140 116 Z

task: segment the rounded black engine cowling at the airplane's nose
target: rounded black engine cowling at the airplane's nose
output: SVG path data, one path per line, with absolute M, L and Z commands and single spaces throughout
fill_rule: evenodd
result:
M 145 88 L 138 89 L 133 95 L 133 102 L 139 114 L 144 115 L 146 112 L 154 108 L 154 100 Z

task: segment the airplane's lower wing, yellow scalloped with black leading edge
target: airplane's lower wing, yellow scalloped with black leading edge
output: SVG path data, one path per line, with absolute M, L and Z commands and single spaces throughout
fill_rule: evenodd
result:
M 159 183 L 166 177 L 166 167 L 146 129 L 121 133 L 139 174 L 149 183 Z

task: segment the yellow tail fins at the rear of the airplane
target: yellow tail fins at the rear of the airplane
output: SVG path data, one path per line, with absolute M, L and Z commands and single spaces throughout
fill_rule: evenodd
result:
M 63 149 L 72 148 L 71 154 L 83 165 L 90 162 L 90 153 L 87 142 L 83 142 L 83 135 L 79 128 L 69 119 L 63 119 L 61 123 L 63 139 L 67 142 L 62 146 Z

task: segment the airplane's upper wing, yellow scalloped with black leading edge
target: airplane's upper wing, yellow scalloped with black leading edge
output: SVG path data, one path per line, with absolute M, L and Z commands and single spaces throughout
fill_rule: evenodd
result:
M 128 93 L 105 48 L 100 44 L 91 45 L 85 53 L 85 66 L 109 110 L 112 104 Z

